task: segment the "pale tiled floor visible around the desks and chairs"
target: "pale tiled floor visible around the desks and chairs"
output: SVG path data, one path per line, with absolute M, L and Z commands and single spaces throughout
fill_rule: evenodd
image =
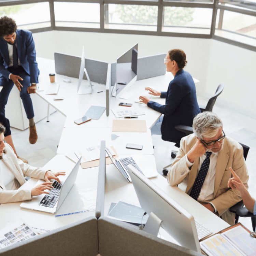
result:
M 206 104 L 207 99 L 198 97 L 199 104 Z M 223 121 L 225 134 L 238 142 L 250 147 L 246 159 L 247 169 L 250 175 L 249 191 L 256 197 L 256 184 L 254 183 L 256 174 L 256 120 L 243 115 L 237 111 L 218 104 L 214 105 L 213 111 L 218 114 Z M 46 118 L 36 124 L 38 131 L 38 141 L 34 145 L 29 144 L 29 130 L 20 131 L 12 129 L 12 136 L 17 154 L 26 158 L 32 166 L 42 167 L 56 155 L 57 145 L 65 122 L 65 117 L 55 112 L 50 116 L 50 122 Z M 158 135 L 153 135 L 154 154 L 157 170 L 162 174 L 163 167 L 171 162 L 171 151 L 177 150 L 174 143 L 162 141 Z M 240 222 L 252 229 L 251 218 L 240 218 Z

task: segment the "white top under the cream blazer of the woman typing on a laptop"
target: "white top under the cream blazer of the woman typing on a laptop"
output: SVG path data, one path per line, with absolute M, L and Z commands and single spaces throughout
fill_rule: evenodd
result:
M 19 185 L 15 180 L 14 174 L 3 163 L 2 160 L 0 160 L 0 180 L 4 184 L 6 190 L 16 190 L 19 188 Z

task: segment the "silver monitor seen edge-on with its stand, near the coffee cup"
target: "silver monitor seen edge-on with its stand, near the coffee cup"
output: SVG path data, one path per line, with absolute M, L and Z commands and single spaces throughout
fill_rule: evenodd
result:
M 84 73 L 87 77 L 88 82 L 83 82 Z M 85 69 L 84 46 L 83 46 L 79 80 L 78 80 L 78 86 L 77 86 L 77 94 L 91 94 L 91 93 L 93 93 L 93 87 L 92 87 L 89 75 L 87 73 L 87 70 Z

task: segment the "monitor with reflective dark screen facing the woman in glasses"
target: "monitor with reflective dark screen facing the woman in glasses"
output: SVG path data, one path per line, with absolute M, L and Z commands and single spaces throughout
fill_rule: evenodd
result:
M 138 43 L 116 61 L 116 83 L 112 96 L 124 93 L 137 80 Z

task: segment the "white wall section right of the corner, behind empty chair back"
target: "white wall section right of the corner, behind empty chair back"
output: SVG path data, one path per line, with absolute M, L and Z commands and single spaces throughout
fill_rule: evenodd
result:
M 218 101 L 256 118 L 256 52 L 212 40 L 205 96 L 220 83 L 225 88 Z

